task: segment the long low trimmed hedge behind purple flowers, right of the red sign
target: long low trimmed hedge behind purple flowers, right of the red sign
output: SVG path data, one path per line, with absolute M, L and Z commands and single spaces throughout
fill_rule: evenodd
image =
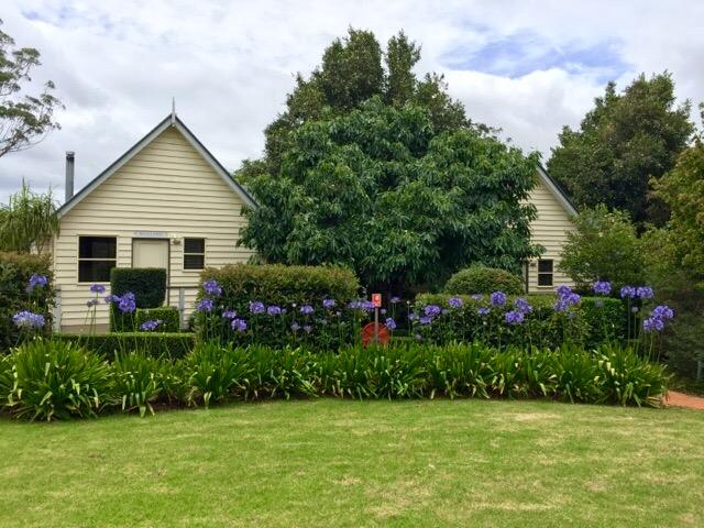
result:
M 451 308 L 450 298 L 459 297 L 463 306 Z M 512 310 L 516 298 L 527 299 L 532 311 L 521 324 L 507 324 L 506 311 Z M 559 348 L 564 341 L 580 343 L 590 349 L 605 343 L 622 342 L 627 338 L 627 309 L 619 299 L 608 297 L 582 297 L 570 314 L 553 309 L 556 297 L 551 295 L 509 296 L 503 308 L 490 307 L 488 296 L 481 300 L 469 295 L 422 294 L 416 298 L 416 311 L 422 315 L 427 305 L 446 310 L 431 324 L 414 323 L 410 333 L 433 343 L 451 341 L 484 341 L 491 345 L 536 345 Z M 490 307 L 486 316 L 480 308 Z

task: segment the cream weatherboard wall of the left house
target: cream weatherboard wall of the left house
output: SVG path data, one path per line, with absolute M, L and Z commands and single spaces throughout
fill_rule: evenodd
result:
M 237 248 L 242 199 L 174 128 L 166 129 L 118 172 L 88 194 L 62 218 L 54 240 L 54 273 L 61 288 L 65 330 L 86 322 L 90 284 L 78 283 L 78 237 L 117 237 L 118 267 L 132 266 L 132 239 L 169 240 L 168 304 L 178 307 L 185 288 L 190 314 L 200 271 L 184 270 L 184 238 L 206 239 L 206 267 L 246 262 L 252 252 Z M 105 284 L 108 292 L 110 285 Z M 108 308 L 98 306 L 96 323 L 108 323 Z

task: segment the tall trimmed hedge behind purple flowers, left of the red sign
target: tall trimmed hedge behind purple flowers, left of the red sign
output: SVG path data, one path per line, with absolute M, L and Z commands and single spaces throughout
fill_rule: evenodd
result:
M 237 264 L 207 270 L 202 278 L 222 288 L 220 295 L 202 292 L 199 296 L 212 301 L 210 311 L 196 318 L 204 341 L 337 350 L 354 342 L 360 322 L 369 317 L 365 310 L 348 307 L 358 282 L 341 267 Z M 323 306 L 324 299 L 334 306 Z M 304 307 L 309 307 L 308 312 L 301 312 Z M 268 308 L 276 314 L 270 314 Z M 232 328 L 233 317 L 224 317 L 231 311 L 237 312 L 239 331 Z

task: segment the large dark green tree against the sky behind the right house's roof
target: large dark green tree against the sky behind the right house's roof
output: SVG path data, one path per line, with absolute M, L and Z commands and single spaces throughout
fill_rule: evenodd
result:
M 693 131 L 690 103 L 675 106 L 670 74 L 641 75 L 622 94 L 609 82 L 580 129 L 562 130 L 548 169 L 578 206 L 605 204 L 640 226 L 662 226 L 668 210 L 649 182 L 674 166 Z

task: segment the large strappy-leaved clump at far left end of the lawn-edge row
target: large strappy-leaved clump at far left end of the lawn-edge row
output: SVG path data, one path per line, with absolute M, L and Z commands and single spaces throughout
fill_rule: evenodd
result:
M 8 361 L 13 383 L 6 407 L 18 418 L 96 416 L 109 394 L 107 364 L 73 343 L 38 339 L 14 349 Z

